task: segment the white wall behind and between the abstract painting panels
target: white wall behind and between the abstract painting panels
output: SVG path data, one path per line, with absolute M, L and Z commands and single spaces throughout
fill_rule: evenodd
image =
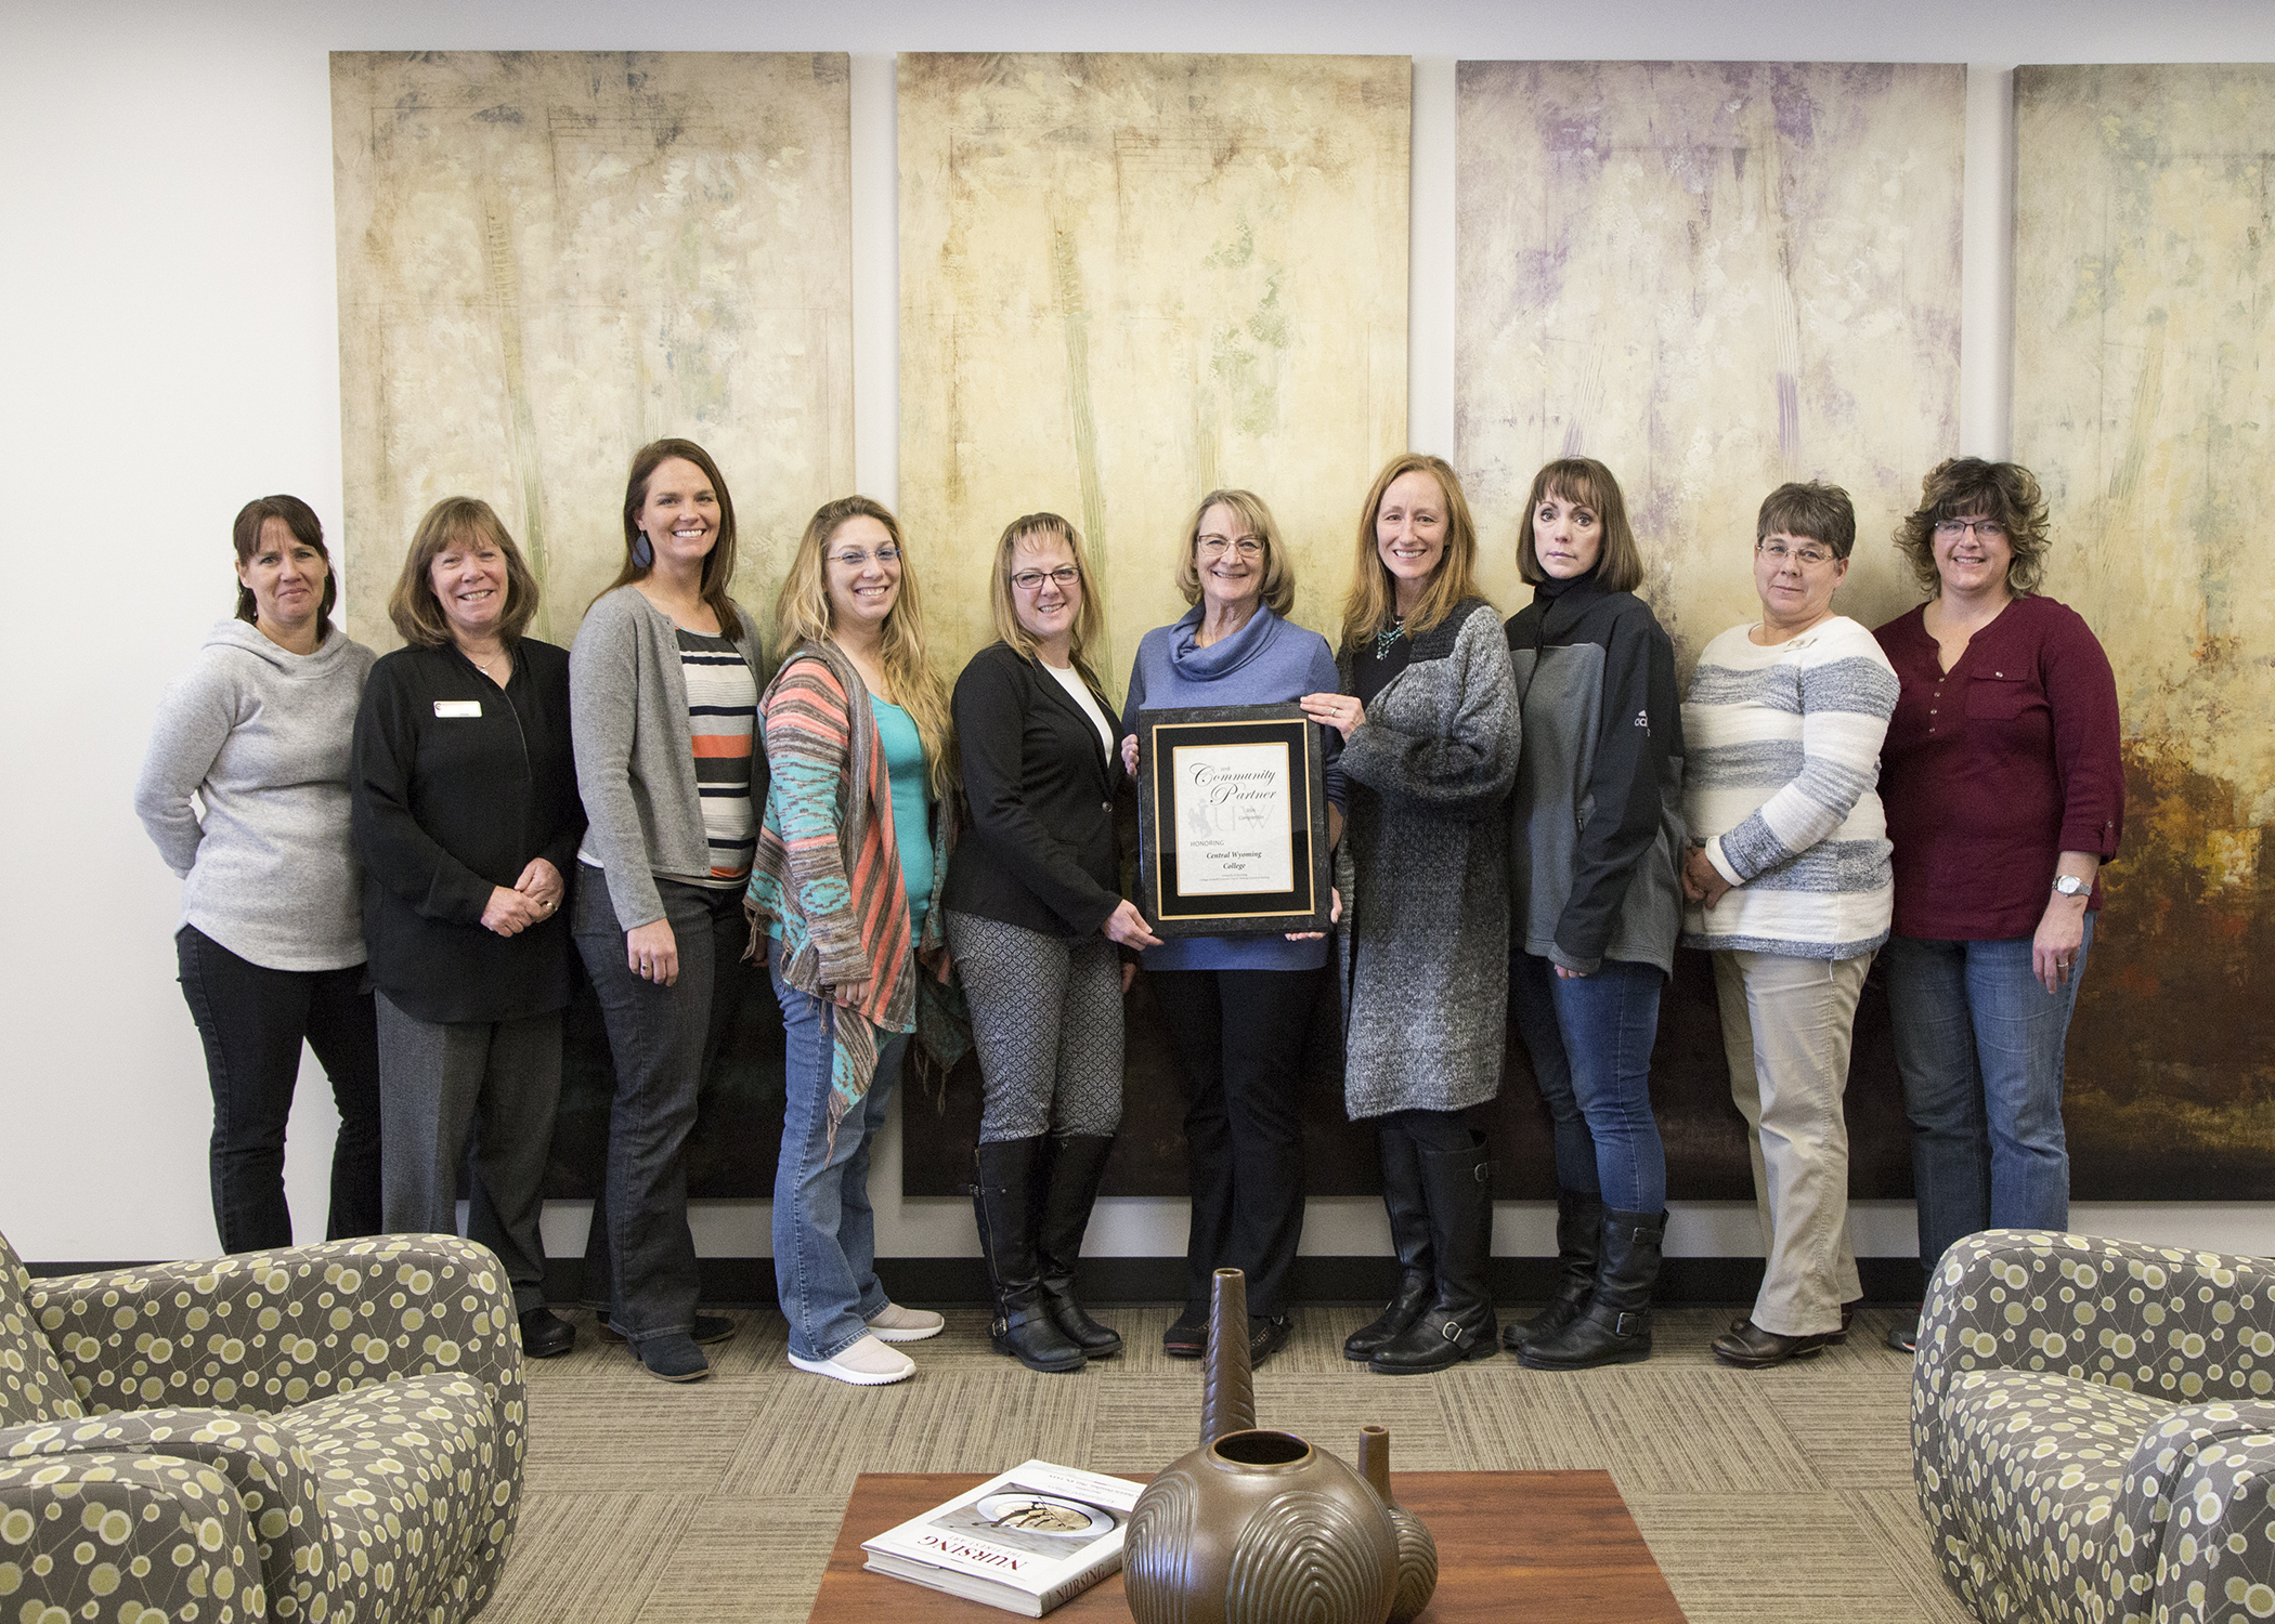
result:
M 2264 0 L 164 0 L 0 7 L 0 491 L 25 614 L 0 639 L 0 1231 L 34 1260 L 214 1244 L 209 1101 L 173 987 L 177 885 L 127 798 L 150 707 L 228 612 L 228 523 L 257 491 L 337 523 L 330 50 L 653 48 L 853 52 L 855 469 L 896 484 L 896 50 L 1222 50 L 1415 57 L 1410 437 L 1454 437 L 1454 61 L 1697 57 L 1970 61 L 1963 450 L 2007 450 L 2009 68 L 2018 61 L 2268 61 Z M 291 1192 L 321 1233 L 332 1112 L 303 1076 Z M 880 1249 L 971 1251 L 960 1203 L 901 1203 L 878 1162 Z M 2091 1208 L 2079 1224 L 2264 1249 L 2259 1208 Z M 582 1215 L 548 1217 L 573 1249 Z M 705 1251 L 762 1253 L 764 1205 L 698 1212 Z M 1176 1253 L 1181 1203 L 1106 1203 L 1099 1251 Z M 1547 1251 L 1536 1208 L 1504 1251 Z M 1690 1208 L 1674 1249 L 1752 1251 L 1752 1215 Z M 1904 1203 L 1861 1249 L 1911 1249 Z M 1324 1201 L 1306 1249 L 1385 1249 L 1379 1208 Z

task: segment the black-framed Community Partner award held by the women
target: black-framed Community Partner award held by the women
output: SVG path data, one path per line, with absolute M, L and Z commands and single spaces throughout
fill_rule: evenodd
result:
M 1228 801 L 1194 803 L 1190 773 L 1181 782 L 1181 762 L 1194 767 L 1185 751 L 1222 746 L 1285 746 L 1285 778 L 1279 792 L 1265 794 L 1285 807 L 1254 830 L 1224 835 L 1238 842 L 1222 864 L 1256 857 L 1267 871 L 1285 871 L 1288 887 L 1269 885 L 1254 892 L 1224 889 L 1219 871 L 1210 885 L 1181 885 L 1181 842 L 1176 830 L 1188 819 L 1233 817 L 1213 810 L 1242 798 L 1238 782 L 1219 782 Z M 1254 764 L 1254 753 L 1244 764 Z M 1167 839 L 1165 839 L 1167 835 Z M 1217 839 L 1210 835 L 1210 839 Z M 1285 844 L 1281 844 L 1285 842 Z M 1288 930 L 1326 930 L 1333 910 L 1326 848 L 1326 757 L 1320 728 L 1301 705 L 1190 705 L 1183 710 L 1138 712 L 1138 908 L 1158 937 L 1244 937 L 1283 935 Z

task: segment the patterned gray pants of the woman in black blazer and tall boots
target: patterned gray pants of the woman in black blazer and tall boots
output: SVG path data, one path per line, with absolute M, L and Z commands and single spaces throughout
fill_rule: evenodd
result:
M 1110 1135 L 1122 1126 L 1122 960 L 1106 937 L 949 912 L 971 1003 L 985 1105 L 981 1144 Z

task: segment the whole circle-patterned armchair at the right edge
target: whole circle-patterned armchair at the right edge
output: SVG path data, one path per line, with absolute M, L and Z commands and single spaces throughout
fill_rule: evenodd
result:
M 1977 1617 L 2275 1617 L 2275 1262 L 1986 1231 L 1911 1372 L 1920 1510 Z

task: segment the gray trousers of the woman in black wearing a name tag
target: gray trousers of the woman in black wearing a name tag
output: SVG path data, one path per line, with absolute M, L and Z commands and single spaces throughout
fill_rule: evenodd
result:
M 466 1237 L 514 1283 L 514 1312 L 546 1303 L 546 1162 L 562 1094 L 562 1017 L 421 1021 L 380 1008 L 380 1203 L 389 1233 L 457 1233 L 457 1165 L 473 1133 Z

